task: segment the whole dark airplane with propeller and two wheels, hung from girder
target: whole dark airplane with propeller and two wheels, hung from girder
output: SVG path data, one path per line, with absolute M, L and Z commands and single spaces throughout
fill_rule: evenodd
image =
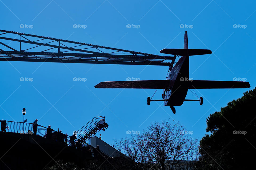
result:
M 207 49 L 189 49 L 187 42 L 187 31 L 184 36 L 183 49 L 163 49 L 160 53 L 182 56 L 175 66 L 169 71 L 166 80 L 139 80 L 139 81 L 112 81 L 101 82 L 95 88 L 148 88 L 163 89 L 161 100 L 151 100 L 147 97 L 147 105 L 151 101 L 164 101 L 165 106 L 170 106 L 175 114 L 174 106 L 180 106 L 184 101 L 199 101 L 203 104 L 203 97 L 198 100 L 185 99 L 188 89 L 210 89 L 210 88 L 249 88 L 249 82 L 239 81 L 214 81 L 214 80 L 192 80 L 189 79 L 189 56 L 211 54 Z

